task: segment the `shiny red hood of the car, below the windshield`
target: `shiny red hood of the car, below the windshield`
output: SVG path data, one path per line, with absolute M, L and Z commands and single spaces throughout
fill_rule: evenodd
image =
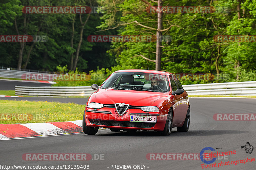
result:
M 131 106 L 150 106 L 151 103 L 166 97 L 167 93 L 133 90 L 99 89 L 96 102 L 101 104 L 125 103 Z

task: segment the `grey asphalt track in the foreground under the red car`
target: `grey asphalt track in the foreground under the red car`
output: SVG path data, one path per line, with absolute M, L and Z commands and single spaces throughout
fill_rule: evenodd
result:
M 199 153 L 204 147 L 218 152 L 236 150 L 228 160 L 256 158 L 256 151 L 247 154 L 241 146 L 256 146 L 255 121 L 215 121 L 216 113 L 255 113 L 256 99 L 190 98 L 191 125 L 188 132 L 173 128 L 170 136 L 155 132 L 136 133 L 100 130 L 97 135 L 83 133 L 50 137 L 1 140 L 1 165 L 89 165 L 89 169 L 108 170 L 111 165 L 145 165 L 145 169 L 202 169 L 201 160 L 148 160 L 148 153 Z M 218 149 L 217 149 L 218 148 Z M 104 160 L 87 161 L 26 161 L 24 153 L 89 153 L 104 154 Z M 143 167 L 143 166 L 142 166 Z M 209 169 L 209 168 L 207 168 Z M 225 165 L 210 169 L 255 169 L 255 162 Z

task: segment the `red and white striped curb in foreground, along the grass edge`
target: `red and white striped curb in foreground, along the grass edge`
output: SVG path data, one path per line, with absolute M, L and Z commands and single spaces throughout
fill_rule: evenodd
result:
M 82 120 L 51 123 L 0 124 L 0 139 L 80 133 L 83 132 L 82 127 Z

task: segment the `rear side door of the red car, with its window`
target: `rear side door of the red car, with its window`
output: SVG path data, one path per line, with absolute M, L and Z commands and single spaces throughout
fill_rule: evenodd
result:
M 180 81 L 178 80 L 178 78 L 176 78 L 175 76 L 174 76 L 174 78 L 175 78 L 174 80 L 177 84 L 178 89 L 183 89 L 183 87 L 182 87 Z M 180 101 L 180 105 L 181 105 L 180 114 L 182 115 L 182 119 L 183 119 L 182 122 L 183 122 L 185 120 L 185 117 L 186 117 L 187 111 L 188 111 L 188 94 L 186 92 L 183 92 L 180 95 L 180 100 L 181 100 Z

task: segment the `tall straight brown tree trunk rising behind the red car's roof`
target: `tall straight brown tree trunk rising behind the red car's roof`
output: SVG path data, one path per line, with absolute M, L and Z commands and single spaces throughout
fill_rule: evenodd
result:
M 157 6 L 163 6 L 162 0 L 157 0 Z M 157 31 L 156 31 L 156 70 L 161 70 L 161 52 L 162 52 L 162 41 L 160 37 L 162 35 L 162 22 L 163 14 L 161 12 L 157 13 Z

